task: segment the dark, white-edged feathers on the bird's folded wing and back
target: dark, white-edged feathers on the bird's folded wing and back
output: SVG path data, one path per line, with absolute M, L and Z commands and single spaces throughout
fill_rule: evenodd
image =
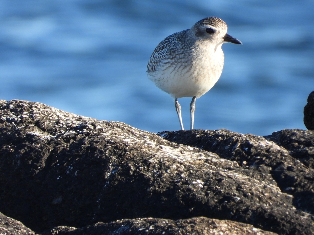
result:
M 183 46 L 182 41 L 185 39 L 189 29 L 174 33 L 162 40 L 150 56 L 147 72 L 154 72 L 160 61 L 168 56 L 173 56 Z

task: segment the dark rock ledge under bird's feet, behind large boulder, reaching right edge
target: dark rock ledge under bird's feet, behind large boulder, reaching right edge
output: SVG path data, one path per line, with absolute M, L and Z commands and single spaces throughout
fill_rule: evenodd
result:
M 244 169 L 250 169 L 251 177 L 262 174 L 264 182 L 268 180 L 269 184 L 278 185 L 280 191 L 294 196 L 293 205 L 297 209 L 314 213 L 313 131 L 283 130 L 266 139 L 223 129 L 161 132 L 159 135 L 236 161 Z

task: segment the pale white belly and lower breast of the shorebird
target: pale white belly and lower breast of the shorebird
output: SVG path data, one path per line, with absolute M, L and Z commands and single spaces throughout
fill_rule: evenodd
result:
M 148 77 L 158 88 L 174 98 L 198 98 L 218 81 L 224 63 L 223 52 L 218 48 L 211 56 L 198 54 L 189 60 L 184 59 L 185 62 L 179 60 L 171 65 L 165 61 Z

